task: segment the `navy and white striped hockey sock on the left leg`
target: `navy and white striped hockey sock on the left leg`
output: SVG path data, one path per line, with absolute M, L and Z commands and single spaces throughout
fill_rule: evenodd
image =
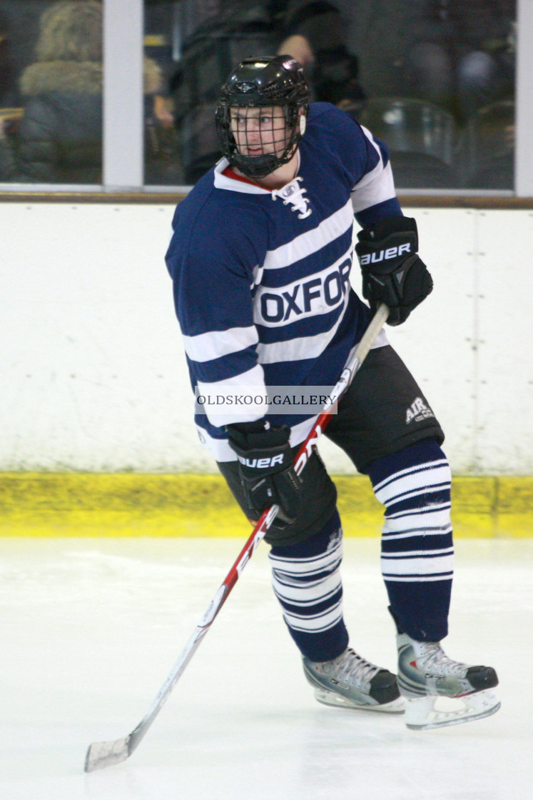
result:
M 295 546 L 272 547 L 272 586 L 300 652 L 311 661 L 348 647 L 342 613 L 342 529 L 337 511 L 324 530 Z

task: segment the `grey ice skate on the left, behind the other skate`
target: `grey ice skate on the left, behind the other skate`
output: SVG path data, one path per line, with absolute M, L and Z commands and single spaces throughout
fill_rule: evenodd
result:
M 315 688 L 315 698 L 326 706 L 392 714 L 404 711 L 396 675 L 365 661 L 350 648 L 332 661 L 304 658 L 304 674 Z

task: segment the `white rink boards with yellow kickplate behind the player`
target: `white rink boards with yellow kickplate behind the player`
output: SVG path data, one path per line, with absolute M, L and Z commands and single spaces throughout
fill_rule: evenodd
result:
M 407 203 L 435 290 L 387 333 L 446 433 L 456 534 L 526 537 L 533 208 L 482 199 Z M 145 200 L 1 204 L 0 535 L 249 533 L 193 425 L 164 264 L 174 201 Z M 320 454 L 345 533 L 379 536 L 368 480 L 325 438 Z

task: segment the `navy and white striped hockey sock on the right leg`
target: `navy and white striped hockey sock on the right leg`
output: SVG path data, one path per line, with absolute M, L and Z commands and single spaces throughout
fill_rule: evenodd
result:
M 400 630 L 420 642 L 447 634 L 453 577 L 451 471 L 433 439 L 379 458 L 368 470 L 385 506 L 381 570 Z

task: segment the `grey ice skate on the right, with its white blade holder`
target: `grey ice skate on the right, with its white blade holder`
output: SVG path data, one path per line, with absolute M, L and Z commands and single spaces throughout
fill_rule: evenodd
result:
M 442 728 L 488 717 L 499 709 L 491 666 L 452 661 L 440 642 L 397 635 L 398 686 L 406 701 L 405 724 L 413 730 Z

